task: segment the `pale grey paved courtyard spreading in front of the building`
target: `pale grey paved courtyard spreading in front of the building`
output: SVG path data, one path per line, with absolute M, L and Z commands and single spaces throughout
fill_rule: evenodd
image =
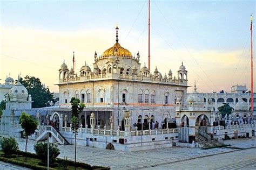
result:
M 25 150 L 25 139 L 16 139 L 19 143 L 19 148 Z M 29 140 L 29 152 L 34 152 L 34 143 L 35 141 Z M 225 166 L 232 168 L 235 163 L 239 162 L 242 162 L 241 165 L 243 165 L 243 167 L 249 167 L 247 169 L 250 169 L 251 164 L 255 165 L 256 149 L 252 148 L 256 147 L 255 137 L 252 139 L 228 140 L 225 141 L 225 144 L 231 146 L 208 150 L 187 147 L 167 147 L 134 152 L 78 146 L 77 161 L 86 162 L 91 165 L 111 167 L 111 169 L 194 169 L 198 167 L 199 169 L 213 169 L 224 168 Z M 233 146 L 235 148 L 232 148 Z M 58 147 L 60 148 L 60 158 L 68 157 L 68 159 L 73 160 L 75 155 L 74 145 L 59 145 Z M 239 147 L 242 149 L 251 149 L 241 150 Z M 215 165 L 215 162 L 217 162 L 217 165 Z M 204 166 L 201 164 L 204 164 Z

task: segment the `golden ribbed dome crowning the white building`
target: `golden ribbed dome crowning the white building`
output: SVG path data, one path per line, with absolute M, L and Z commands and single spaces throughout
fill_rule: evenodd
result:
M 132 53 L 128 49 L 123 48 L 118 42 L 116 42 L 116 44 L 114 44 L 113 47 L 107 49 L 103 53 L 103 57 L 112 56 L 112 55 L 128 56 L 132 58 Z

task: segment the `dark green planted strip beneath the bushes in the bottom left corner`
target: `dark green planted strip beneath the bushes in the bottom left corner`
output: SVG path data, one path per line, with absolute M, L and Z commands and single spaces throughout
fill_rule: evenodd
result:
M 46 166 L 38 165 L 39 162 L 41 162 L 40 159 L 38 159 L 36 154 L 29 153 L 27 161 L 25 161 L 25 152 L 18 151 L 17 155 L 15 155 L 14 158 L 7 158 L 4 155 L 3 151 L 0 151 L 0 161 L 8 162 L 10 164 L 15 164 L 22 167 L 27 167 L 31 169 L 47 169 Z M 64 163 L 67 165 L 66 169 L 74 169 L 75 167 L 74 162 L 70 160 L 63 160 L 63 159 L 57 159 L 56 164 L 58 164 L 58 167 L 50 167 L 50 169 L 64 169 Z M 39 163 L 40 164 L 40 163 Z M 99 167 L 99 166 L 90 166 L 89 164 L 84 164 L 81 162 L 77 162 L 77 169 L 110 169 L 107 167 Z

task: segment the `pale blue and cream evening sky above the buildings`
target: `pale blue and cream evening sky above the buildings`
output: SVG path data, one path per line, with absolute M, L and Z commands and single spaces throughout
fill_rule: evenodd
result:
M 93 68 L 95 51 L 102 54 L 113 46 L 116 25 L 119 43 L 133 55 L 139 51 L 140 62 L 147 65 L 147 0 L 0 1 L 0 6 L 2 83 L 6 75 L 30 75 L 58 92 L 63 60 L 71 68 L 74 51 L 76 72 L 85 61 Z M 163 75 L 171 69 L 177 77 L 183 62 L 188 85 L 196 80 L 199 92 L 230 92 L 235 84 L 250 88 L 255 1 L 152 0 L 150 10 L 151 72 L 157 66 Z

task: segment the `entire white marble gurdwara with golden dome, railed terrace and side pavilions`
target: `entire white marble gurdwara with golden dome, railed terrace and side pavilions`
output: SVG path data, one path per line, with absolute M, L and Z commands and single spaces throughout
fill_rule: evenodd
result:
M 73 144 L 70 100 L 76 97 L 86 106 L 79 115 L 79 145 L 136 151 L 194 140 L 199 147 L 213 147 L 223 145 L 227 131 L 231 137 L 254 135 L 252 119 L 239 127 L 220 125 L 221 120 L 231 122 L 231 118 L 216 114 L 214 102 L 204 101 L 196 82 L 193 93 L 187 96 L 188 72 L 183 63 L 176 75 L 170 69 L 164 76 L 157 67 L 150 72 L 145 64 L 141 66 L 139 52 L 134 56 L 119 44 L 118 27 L 116 43 L 102 55 L 95 52 L 92 57 L 93 68 L 85 62 L 79 73 L 69 69 L 65 61 L 60 66 L 58 106 L 31 109 L 33 96 L 20 82 L 12 87 L 6 98 L 9 107 L 3 112 L 1 133 L 20 136 L 18 119 L 25 111 L 40 124 L 33 139 L 44 140 L 51 133 L 50 141 Z M 14 107 L 15 102 L 19 108 Z

